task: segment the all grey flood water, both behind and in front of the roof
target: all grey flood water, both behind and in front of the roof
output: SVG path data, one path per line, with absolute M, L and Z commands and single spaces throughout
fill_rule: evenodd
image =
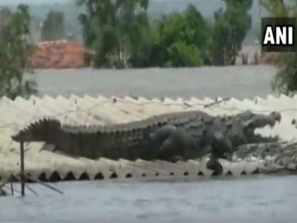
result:
M 270 66 L 194 69 L 45 69 L 40 96 L 266 97 Z M 31 184 L 38 196 L 0 198 L 0 222 L 296 222 L 297 176 L 191 181 Z M 19 185 L 18 185 L 19 186 Z

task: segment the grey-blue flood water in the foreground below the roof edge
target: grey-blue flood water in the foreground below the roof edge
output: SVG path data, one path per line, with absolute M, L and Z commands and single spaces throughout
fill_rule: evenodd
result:
M 296 222 L 297 176 L 30 184 L 0 198 L 0 222 Z

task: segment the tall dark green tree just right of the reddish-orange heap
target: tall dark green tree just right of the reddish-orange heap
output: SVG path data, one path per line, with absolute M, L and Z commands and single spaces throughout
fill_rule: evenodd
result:
M 79 0 L 78 4 L 87 9 L 79 19 L 86 46 L 95 50 L 95 67 L 127 67 L 148 26 L 148 0 Z

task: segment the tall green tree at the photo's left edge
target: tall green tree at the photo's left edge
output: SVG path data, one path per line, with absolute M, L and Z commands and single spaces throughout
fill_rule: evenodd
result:
M 36 91 L 36 83 L 23 76 L 27 58 L 33 50 L 28 43 L 30 13 L 28 6 L 19 5 L 16 12 L 6 11 L 1 22 L 0 40 L 0 96 L 16 98 Z

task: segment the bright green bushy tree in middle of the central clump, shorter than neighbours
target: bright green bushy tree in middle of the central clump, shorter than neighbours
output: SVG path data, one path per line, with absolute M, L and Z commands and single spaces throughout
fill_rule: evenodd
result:
M 209 64 L 210 28 L 194 6 L 189 5 L 183 13 L 163 16 L 156 22 L 156 32 L 152 64 L 161 67 Z

